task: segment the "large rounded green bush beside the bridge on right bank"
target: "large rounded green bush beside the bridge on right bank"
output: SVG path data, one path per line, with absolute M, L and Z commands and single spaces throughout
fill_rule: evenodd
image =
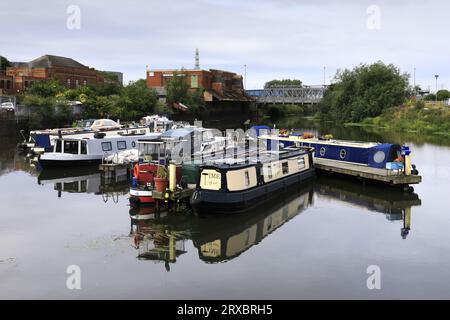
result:
M 361 64 L 353 70 L 337 72 L 335 83 L 319 105 L 319 116 L 324 120 L 357 122 L 401 105 L 409 95 L 407 74 L 382 62 Z

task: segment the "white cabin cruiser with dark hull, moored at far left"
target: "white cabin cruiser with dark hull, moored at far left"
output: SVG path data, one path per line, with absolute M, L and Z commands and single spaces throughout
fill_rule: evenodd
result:
M 39 164 L 43 168 L 100 164 L 108 155 L 136 148 L 139 139 L 159 136 L 159 133 L 136 132 L 106 136 L 99 132 L 93 137 L 61 137 L 56 139 L 52 152 L 39 156 Z

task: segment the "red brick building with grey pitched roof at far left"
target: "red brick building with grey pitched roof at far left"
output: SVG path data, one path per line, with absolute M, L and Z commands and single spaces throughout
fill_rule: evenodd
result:
M 94 68 L 89 68 L 70 58 L 44 55 L 28 63 L 12 63 L 12 66 L 6 68 L 4 76 L 0 74 L 0 89 L 4 92 L 18 93 L 30 87 L 35 81 L 53 78 L 67 88 L 105 82 Z

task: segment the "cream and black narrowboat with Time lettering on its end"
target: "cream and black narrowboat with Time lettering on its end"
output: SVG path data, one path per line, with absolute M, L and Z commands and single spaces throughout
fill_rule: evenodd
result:
M 197 213 L 247 211 L 312 178 L 312 152 L 312 148 L 291 146 L 261 152 L 244 162 L 229 159 L 202 165 L 190 203 Z

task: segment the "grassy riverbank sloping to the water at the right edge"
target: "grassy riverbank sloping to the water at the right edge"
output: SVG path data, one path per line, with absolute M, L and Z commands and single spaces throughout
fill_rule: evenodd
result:
M 443 106 L 409 105 L 390 108 L 377 117 L 365 118 L 346 126 L 378 127 L 420 134 L 450 137 L 450 108 Z

